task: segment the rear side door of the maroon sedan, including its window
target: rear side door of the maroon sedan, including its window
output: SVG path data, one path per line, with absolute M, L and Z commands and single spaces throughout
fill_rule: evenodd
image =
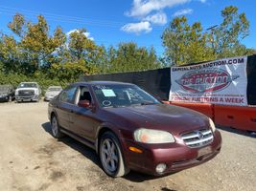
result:
M 58 114 L 59 125 L 67 130 L 70 130 L 71 126 L 71 114 L 73 112 L 75 96 L 77 92 L 76 86 L 68 87 L 63 90 L 58 96 L 58 106 L 56 108 Z

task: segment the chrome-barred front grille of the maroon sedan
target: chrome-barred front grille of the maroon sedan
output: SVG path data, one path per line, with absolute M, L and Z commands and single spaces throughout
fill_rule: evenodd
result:
M 202 129 L 183 134 L 181 138 L 187 146 L 197 148 L 213 141 L 213 133 L 210 129 Z

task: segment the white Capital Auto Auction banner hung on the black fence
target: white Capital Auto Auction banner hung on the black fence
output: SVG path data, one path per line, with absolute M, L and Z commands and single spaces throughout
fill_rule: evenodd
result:
M 247 105 L 247 56 L 172 67 L 170 101 Z

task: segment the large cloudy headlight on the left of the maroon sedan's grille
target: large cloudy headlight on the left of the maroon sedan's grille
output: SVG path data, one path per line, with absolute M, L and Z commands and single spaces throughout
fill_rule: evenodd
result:
M 134 139 L 138 142 L 151 144 L 175 142 L 174 136 L 169 132 L 143 128 L 134 132 Z

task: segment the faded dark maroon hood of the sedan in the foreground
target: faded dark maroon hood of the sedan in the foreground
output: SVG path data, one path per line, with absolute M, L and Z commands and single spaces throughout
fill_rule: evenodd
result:
M 175 135 L 209 128 L 208 117 L 196 111 L 174 105 L 156 104 L 108 108 L 107 110 L 136 124 L 137 127 L 160 129 Z

